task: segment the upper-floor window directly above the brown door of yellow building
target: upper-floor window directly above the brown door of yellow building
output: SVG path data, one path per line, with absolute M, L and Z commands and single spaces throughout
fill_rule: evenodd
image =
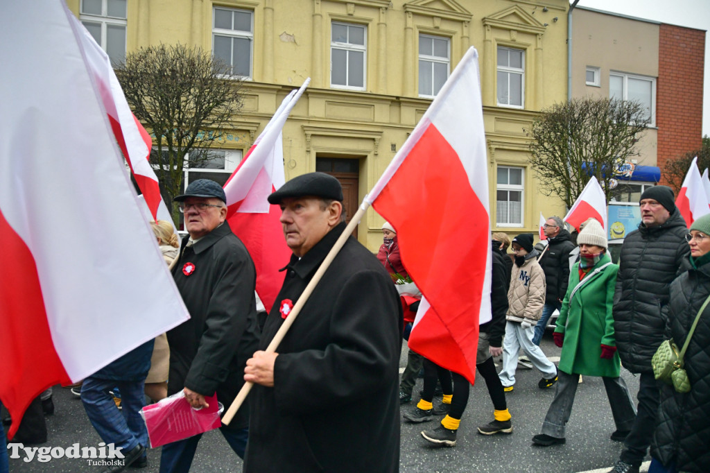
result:
M 330 85 L 365 89 L 367 28 L 349 23 L 332 23 L 330 36 Z

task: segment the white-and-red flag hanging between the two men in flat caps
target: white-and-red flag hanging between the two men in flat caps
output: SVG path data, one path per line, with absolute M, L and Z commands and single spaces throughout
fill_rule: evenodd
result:
M 226 221 L 254 261 L 256 293 L 267 312 L 283 285 L 283 273 L 278 270 L 288 263 L 291 250 L 283 238 L 280 207 L 269 204 L 266 197 L 285 183 L 281 129 L 309 83 L 310 78 L 283 99 L 224 185 Z

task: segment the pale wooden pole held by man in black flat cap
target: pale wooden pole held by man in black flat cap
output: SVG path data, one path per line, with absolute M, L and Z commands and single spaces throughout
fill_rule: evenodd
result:
M 350 223 L 347 225 L 347 227 L 345 227 L 343 233 L 337 239 L 332 249 L 330 249 L 323 262 L 320 263 L 318 271 L 316 271 L 315 275 L 310 280 L 310 283 L 308 283 L 308 286 L 306 286 L 306 288 L 303 290 L 303 293 L 296 301 L 295 305 L 293 306 L 293 309 L 288 312 L 288 317 L 286 317 L 286 320 L 283 321 L 283 324 L 281 324 L 281 327 L 278 329 L 278 332 L 276 332 L 276 335 L 274 335 L 273 340 L 271 340 L 271 343 L 268 344 L 268 347 L 266 347 L 266 353 L 274 353 L 276 351 L 276 348 L 278 348 L 278 345 L 281 343 L 281 340 L 283 340 L 283 337 L 285 337 L 286 332 L 288 332 L 288 329 L 290 329 L 291 325 L 293 325 L 293 321 L 296 320 L 296 317 L 300 313 L 301 309 L 307 302 L 308 298 L 310 298 L 310 295 L 315 289 L 315 286 L 317 286 L 317 284 L 320 282 L 320 279 L 323 277 L 323 274 L 325 273 L 325 271 L 327 271 L 330 266 L 330 263 L 332 263 L 333 259 L 335 259 L 335 256 L 338 254 L 340 249 L 342 249 L 343 245 L 345 244 L 345 241 L 353 232 L 356 225 L 359 224 L 360 219 L 365 214 L 365 211 L 368 207 L 370 207 L 370 204 L 364 201 L 358 211 L 355 212 L 353 218 L 350 220 Z M 234 414 L 236 414 L 236 411 L 241 407 L 241 404 L 244 403 L 244 399 L 246 399 L 246 395 L 249 394 L 249 391 L 251 391 L 251 387 L 253 385 L 253 383 L 247 381 L 246 383 L 244 383 L 244 386 L 241 386 L 239 394 L 236 395 L 234 402 L 231 403 L 231 406 L 229 406 L 229 409 L 227 409 L 226 413 L 224 414 L 224 417 L 222 418 L 223 424 L 229 425 L 232 418 L 234 418 Z

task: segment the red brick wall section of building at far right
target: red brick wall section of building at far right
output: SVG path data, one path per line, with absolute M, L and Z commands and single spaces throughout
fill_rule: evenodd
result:
M 661 24 L 656 83 L 658 166 L 701 147 L 705 31 Z M 667 184 L 665 178 L 661 183 Z

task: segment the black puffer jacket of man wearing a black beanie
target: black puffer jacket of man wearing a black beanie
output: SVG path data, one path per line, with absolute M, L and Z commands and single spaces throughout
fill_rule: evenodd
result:
M 670 283 L 690 267 L 688 229 L 678 210 L 657 227 L 639 224 L 624 239 L 614 293 L 614 334 L 621 364 L 651 373 L 651 357 L 663 341 Z

